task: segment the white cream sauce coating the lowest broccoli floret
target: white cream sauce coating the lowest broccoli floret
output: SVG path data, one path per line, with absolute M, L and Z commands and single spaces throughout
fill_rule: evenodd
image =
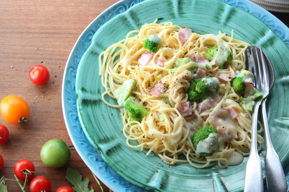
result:
M 217 149 L 218 135 L 216 133 L 210 133 L 208 138 L 201 140 L 196 151 L 198 153 L 213 153 Z

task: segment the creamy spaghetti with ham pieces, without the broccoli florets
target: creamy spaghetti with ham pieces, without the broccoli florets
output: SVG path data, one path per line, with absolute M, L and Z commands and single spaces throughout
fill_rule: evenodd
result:
M 231 37 L 221 32 L 216 36 L 199 35 L 172 22 L 156 22 L 129 32 L 125 39 L 111 45 L 99 56 L 100 75 L 105 88 L 102 100 L 111 107 L 121 109 L 127 145 L 148 149 L 147 155 L 154 153 L 167 164 L 184 162 L 196 168 L 204 168 L 211 161 L 217 161 L 222 168 L 238 164 L 230 162 L 229 156 L 249 154 L 252 117 L 246 107 L 238 103 L 244 92 L 236 93 L 230 81 L 245 69 L 244 51 L 249 44 L 234 39 L 233 30 Z M 162 40 L 155 53 L 143 48 L 149 35 L 156 35 Z M 203 58 L 215 45 L 230 50 L 233 56 L 223 69 Z M 175 61 L 185 57 L 192 58 L 194 62 L 173 69 Z M 143 60 L 147 62 L 141 62 Z M 207 69 L 204 63 L 212 64 L 212 67 Z M 192 68 L 198 71 L 192 72 Z M 201 72 L 203 74 L 199 74 Z M 216 92 L 206 99 L 191 101 L 188 97 L 191 79 L 202 75 L 210 75 L 210 78 L 214 77 L 224 84 L 226 89 L 223 94 Z M 114 91 L 127 79 L 136 80 L 137 88 L 131 94 L 148 111 L 141 121 L 131 119 L 121 105 L 105 100 L 106 94 L 115 98 Z M 236 115 L 234 118 L 230 116 L 231 111 Z M 258 133 L 262 132 L 260 122 L 259 125 Z M 217 149 L 208 157 L 199 154 L 192 144 L 193 133 L 205 126 L 213 126 L 219 138 Z M 138 144 L 135 145 L 133 140 Z M 264 140 L 259 134 L 257 142 L 258 150 L 261 150 Z

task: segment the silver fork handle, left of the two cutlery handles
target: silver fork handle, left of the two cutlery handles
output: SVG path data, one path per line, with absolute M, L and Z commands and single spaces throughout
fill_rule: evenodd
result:
M 244 192 L 264 191 L 262 165 L 257 150 L 257 117 L 261 102 L 257 101 L 253 109 L 251 151 L 246 164 Z

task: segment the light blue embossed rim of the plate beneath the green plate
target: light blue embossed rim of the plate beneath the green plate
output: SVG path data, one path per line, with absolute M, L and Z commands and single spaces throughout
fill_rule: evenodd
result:
M 265 19 L 265 21 L 267 21 L 268 20 L 268 18 L 263 18 L 262 19 L 262 17 L 263 16 L 271 16 L 271 20 L 273 19 L 273 20 L 275 20 L 274 21 L 274 23 L 275 24 L 278 24 L 277 26 L 279 26 L 279 25 L 281 25 L 282 26 L 282 22 L 278 19 L 278 18 L 276 18 L 275 16 L 273 16 L 270 12 L 268 12 L 268 11 L 266 11 L 265 9 L 263 9 L 262 7 L 260 7 L 260 6 L 258 6 L 258 5 L 256 5 L 256 4 L 254 4 L 254 3 L 252 3 L 252 2 L 250 2 L 250 1 L 248 1 L 248 0 L 220 0 L 220 1 L 223 1 L 223 2 L 225 2 L 225 3 L 227 3 L 227 4 L 229 4 L 229 5 L 233 5 L 234 7 L 236 7 L 237 5 L 238 5 L 238 3 L 247 3 L 247 5 L 249 5 L 249 8 L 252 8 L 251 6 L 253 6 L 253 8 L 255 7 L 255 6 L 257 6 L 257 7 L 259 7 L 258 9 L 260 9 L 261 10 L 261 13 L 258 11 L 257 13 L 255 12 L 255 13 L 252 13 L 252 12 L 249 12 L 251 9 L 249 9 L 249 10 L 246 10 L 246 9 L 244 9 L 244 10 L 246 10 L 247 12 L 249 12 L 249 13 L 251 13 L 251 14 L 253 14 L 253 15 L 255 15 L 255 16 L 257 16 L 259 19 L 261 19 L 263 22 L 264 22 L 264 19 Z M 69 57 L 68 57 L 68 60 L 67 60 L 67 62 L 66 62 L 66 66 L 65 66 L 65 69 L 64 69 L 64 76 L 63 76 L 63 81 L 62 81 L 62 110 L 63 110 L 63 115 L 64 115 L 64 121 L 65 121 L 65 124 L 66 124 L 66 128 L 67 128 L 67 131 L 68 131 L 68 134 L 69 134 L 69 136 L 70 136 L 70 138 L 71 138 L 71 141 L 72 141 L 72 143 L 73 143 L 73 145 L 75 146 L 75 149 L 77 150 L 77 152 L 78 152 L 78 154 L 79 154 L 79 156 L 81 157 L 81 159 L 84 161 L 84 163 L 88 166 L 88 168 L 90 168 L 90 170 L 92 171 L 92 172 L 94 172 L 94 174 L 95 173 L 97 173 L 97 171 L 94 169 L 94 167 L 92 167 L 91 166 L 91 162 L 90 162 L 90 160 L 89 159 L 87 159 L 85 156 L 84 156 L 84 154 L 83 153 L 81 153 L 81 147 L 82 146 L 79 146 L 79 143 L 77 143 L 77 140 L 75 139 L 75 138 L 73 138 L 73 134 L 72 134 L 72 128 L 71 128 L 71 125 L 70 125 L 70 123 L 68 122 L 68 117 L 67 117 L 67 103 L 66 103 L 66 101 L 67 101 L 67 99 L 64 99 L 64 98 L 67 98 L 67 95 L 66 95 L 66 93 L 65 93 L 65 89 L 66 89 L 66 81 L 67 81 L 67 73 L 68 73 L 68 68 L 69 68 L 69 65 L 71 64 L 71 62 L 72 62 L 72 59 L 73 59 L 73 53 L 76 51 L 76 49 L 77 49 L 77 46 L 79 45 L 79 43 L 80 43 L 80 41 L 81 41 L 81 39 L 84 37 L 84 35 L 85 35 L 85 33 L 88 31 L 88 29 L 89 28 L 91 28 L 92 26 L 93 26 L 93 24 L 95 24 L 95 22 L 99 19 L 99 18 L 101 18 L 101 17 L 103 17 L 105 14 L 107 14 L 108 12 L 110 12 L 111 11 L 111 9 L 113 9 L 113 8 L 116 8 L 117 6 L 119 6 L 119 5 L 124 5 L 125 3 L 135 3 L 136 4 L 136 2 L 137 3 L 140 3 L 140 2 L 142 2 L 142 0 L 140 0 L 140 1 L 136 1 L 136 0 L 121 0 L 121 1 L 119 1 L 119 2 L 117 2 L 117 3 L 114 3 L 113 5 L 111 5 L 110 7 L 108 7 L 107 9 L 105 9 L 105 11 L 103 11 L 101 14 L 99 14 L 99 16 L 97 16 L 85 29 L 84 29 L 84 31 L 81 33 L 81 35 L 78 37 L 78 39 L 77 39 L 77 41 L 76 41 L 76 43 L 75 43 L 75 45 L 73 46 L 73 49 L 72 49 L 72 51 L 71 51 L 71 53 L 70 53 L 70 55 L 69 55 Z M 251 5 L 250 5 L 251 4 Z M 129 8 L 129 7 L 128 7 Z M 240 8 L 240 7 L 239 7 Z M 242 8 L 242 6 L 241 6 L 241 8 Z M 245 7 L 244 7 L 245 8 Z M 262 10 L 263 9 L 263 10 Z M 256 10 L 256 9 L 254 9 L 254 10 Z M 264 15 L 264 13 L 266 13 L 267 15 Z M 116 14 L 116 15 L 118 15 L 118 14 Z M 267 19 L 267 20 L 266 20 Z M 266 22 L 265 22 L 266 23 Z M 268 23 L 266 23 L 267 25 L 268 25 Z M 289 33 L 289 28 L 285 25 L 285 24 L 283 24 L 286 28 L 286 32 L 287 33 Z M 274 31 L 274 28 L 272 28 L 270 25 L 268 25 L 273 31 Z M 283 27 L 284 27 L 283 26 Z M 274 31 L 274 33 L 276 33 L 275 31 Z M 277 34 L 277 33 L 276 33 Z M 278 35 L 278 34 L 277 34 Z M 280 35 L 278 35 L 279 37 L 280 37 Z M 287 38 L 284 38 L 284 39 L 289 39 L 289 37 L 288 37 L 289 35 L 287 35 L 286 37 Z M 282 39 L 282 38 L 281 38 Z M 289 41 L 288 41 L 288 43 L 284 40 L 284 39 L 282 39 L 288 46 L 289 46 Z M 86 49 L 85 49 L 86 50 Z M 82 54 L 83 53 L 81 53 L 81 56 L 82 56 Z M 78 65 L 77 65 L 77 67 L 78 67 Z M 76 69 L 75 69 L 76 70 Z M 74 79 L 75 80 L 75 79 Z M 74 84 L 74 94 L 75 94 L 75 84 Z M 68 97 L 69 98 L 69 97 Z M 77 114 L 78 115 L 78 114 Z M 78 121 L 79 121 L 79 119 L 78 119 L 78 117 L 76 118 Z M 87 139 L 87 138 L 86 138 Z M 91 145 L 91 144 L 90 144 Z M 115 188 L 114 186 L 111 186 L 110 185 L 110 183 L 108 183 L 107 182 L 107 180 L 106 180 L 106 178 L 104 178 L 104 177 L 102 177 L 102 176 L 99 176 L 99 174 L 96 174 L 97 175 L 97 177 L 99 177 L 99 179 L 105 184 L 105 185 L 107 185 L 108 187 L 110 187 L 110 188 L 112 188 L 113 190 L 117 190 L 117 189 L 119 189 L 119 188 Z

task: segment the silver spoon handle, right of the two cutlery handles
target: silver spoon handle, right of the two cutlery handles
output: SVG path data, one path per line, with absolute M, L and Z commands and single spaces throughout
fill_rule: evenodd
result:
M 262 120 L 264 125 L 264 134 L 266 141 L 265 155 L 265 175 L 268 191 L 287 191 L 288 185 L 285 178 L 284 170 L 277 155 L 269 132 L 267 114 L 266 114 L 266 98 L 262 102 Z

